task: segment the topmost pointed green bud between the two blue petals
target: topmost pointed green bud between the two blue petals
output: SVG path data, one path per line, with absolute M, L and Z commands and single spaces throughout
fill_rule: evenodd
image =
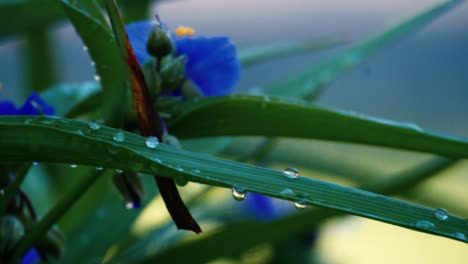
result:
M 154 26 L 150 33 L 146 50 L 156 58 L 162 58 L 172 53 L 174 44 L 169 34 L 160 26 Z

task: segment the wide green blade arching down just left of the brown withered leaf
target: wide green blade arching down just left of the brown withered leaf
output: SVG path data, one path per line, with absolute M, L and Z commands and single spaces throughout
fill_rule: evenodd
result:
M 96 63 L 105 99 L 101 104 L 105 122 L 118 127 L 123 122 L 124 111 L 116 110 L 125 102 L 128 80 L 119 47 L 94 1 L 62 0 L 61 3 Z

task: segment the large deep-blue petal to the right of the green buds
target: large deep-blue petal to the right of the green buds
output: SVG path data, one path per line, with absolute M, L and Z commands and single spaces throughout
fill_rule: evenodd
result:
M 187 75 L 205 96 L 232 93 L 242 68 L 229 38 L 181 37 L 176 47 L 187 56 Z

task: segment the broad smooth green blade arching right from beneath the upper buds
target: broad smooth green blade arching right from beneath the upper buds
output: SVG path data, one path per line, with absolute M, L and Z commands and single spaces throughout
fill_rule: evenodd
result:
M 203 98 L 168 123 L 180 138 L 267 136 L 316 138 L 467 158 L 468 139 L 414 124 L 267 96 Z

